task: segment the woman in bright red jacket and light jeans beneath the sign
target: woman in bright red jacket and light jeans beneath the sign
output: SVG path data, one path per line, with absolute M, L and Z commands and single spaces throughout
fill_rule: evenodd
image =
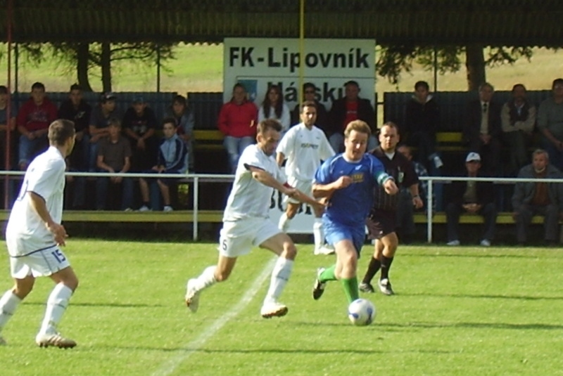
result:
M 217 119 L 217 128 L 224 134 L 223 145 L 229 154 L 232 174 L 242 151 L 254 143 L 257 122 L 258 108 L 246 98 L 244 86 L 235 84 L 231 101 L 222 105 Z

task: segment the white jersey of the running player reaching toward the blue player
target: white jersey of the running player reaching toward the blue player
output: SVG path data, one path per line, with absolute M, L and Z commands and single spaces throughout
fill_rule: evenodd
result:
M 233 188 L 227 200 L 227 207 L 224 209 L 223 221 L 236 221 L 248 217 L 268 218 L 274 188 L 253 179 L 248 169 L 250 166 L 263 169 L 282 184 L 287 181 L 284 171 L 279 169 L 273 156 L 265 155 L 258 145 L 249 145 L 242 152 L 236 167 Z

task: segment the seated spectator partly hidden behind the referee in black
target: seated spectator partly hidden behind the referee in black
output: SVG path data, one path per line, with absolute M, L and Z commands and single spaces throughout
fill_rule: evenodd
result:
M 429 176 L 428 171 L 424 168 L 422 163 L 416 162 L 412 160 L 412 154 L 410 153 L 410 148 L 407 145 L 399 145 L 397 151 L 410 160 L 412 162 L 412 166 L 415 167 L 415 172 L 417 173 L 418 177 L 421 176 Z M 424 206 L 419 209 L 420 211 L 426 211 L 426 207 L 428 207 L 428 182 L 425 180 L 419 180 L 418 182 L 418 193 L 420 195 L 420 199 L 424 203 Z M 432 209 L 436 212 L 436 200 L 432 200 Z M 399 189 L 399 202 L 397 205 L 397 233 L 401 242 L 407 244 L 412 241 L 416 233 L 415 227 L 415 206 L 412 205 L 412 195 L 410 193 L 410 189 L 401 187 Z

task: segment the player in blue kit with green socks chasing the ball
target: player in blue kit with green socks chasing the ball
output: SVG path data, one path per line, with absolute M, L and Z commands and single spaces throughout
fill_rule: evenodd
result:
M 322 223 L 327 242 L 334 246 L 336 264 L 317 270 L 313 299 L 319 299 L 329 280 L 340 280 L 348 303 L 358 299 L 356 268 L 365 239 L 365 220 L 372 207 L 377 184 L 386 192 L 398 192 L 395 181 L 386 174 L 383 164 L 365 153 L 371 131 L 360 120 L 350 122 L 344 131 L 344 153 L 336 155 L 317 169 L 312 191 L 315 197 L 326 197 L 329 206 Z

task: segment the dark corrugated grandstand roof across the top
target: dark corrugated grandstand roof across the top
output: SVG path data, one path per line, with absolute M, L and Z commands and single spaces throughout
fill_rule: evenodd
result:
M 6 41 L 8 2 L 0 0 Z M 298 37 L 299 0 L 11 0 L 13 41 Z M 305 36 L 562 46 L 562 0 L 306 0 Z

